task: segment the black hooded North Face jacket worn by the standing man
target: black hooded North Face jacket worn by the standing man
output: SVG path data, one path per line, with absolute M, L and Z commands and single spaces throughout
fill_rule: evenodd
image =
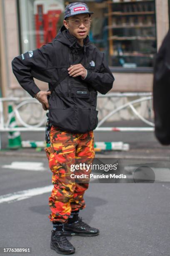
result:
M 87 77 L 67 75 L 55 87 L 75 61 L 87 69 Z M 90 44 L 88 36 L 84 46 L 80 46 L 62 26 L 51 43 L 15 57 L 12 67 L 18 82 L 32 97 L 40 91 L 33 78 L 48 82 L 49 90 L 55 87 L 47 113 L 53 125 L 72 133 L 86 133 L 96 128 L 97 91 L 106 94 L 112 88 L 114 77 L 104 54 Z

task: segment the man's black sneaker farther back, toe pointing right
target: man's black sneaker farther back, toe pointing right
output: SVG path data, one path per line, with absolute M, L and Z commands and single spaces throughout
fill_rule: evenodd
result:
M 90 227 L 80 217 L 74 223 L 64 223 L 63 229 L 65 236 L 97 236 L 99 234 L 97 228 Z

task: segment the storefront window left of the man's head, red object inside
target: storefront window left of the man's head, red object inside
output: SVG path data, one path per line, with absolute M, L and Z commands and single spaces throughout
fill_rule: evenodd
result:
M 20 0 L 22 51 L 40 48 L 56 36 L 64 0 Z

